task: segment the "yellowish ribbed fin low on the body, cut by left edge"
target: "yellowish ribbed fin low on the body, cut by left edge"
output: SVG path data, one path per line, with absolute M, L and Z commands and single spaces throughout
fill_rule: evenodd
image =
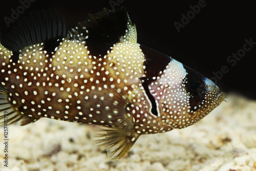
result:
M 0 86 L 0 125 L 10 125 L 20 121 L 20 126 L 34 122 L 34 118 L 20 114 L 13 108 L 13 105 L 8 99 L 8 94 L 11 92 Z

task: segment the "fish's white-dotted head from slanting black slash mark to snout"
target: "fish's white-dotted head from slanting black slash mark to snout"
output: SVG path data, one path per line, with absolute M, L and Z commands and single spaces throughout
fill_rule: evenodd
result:
M 149 89 L 157 104 L 157 117 L 172 129 L 196 123 L 227 101 L 214 82 L 173 58 Z

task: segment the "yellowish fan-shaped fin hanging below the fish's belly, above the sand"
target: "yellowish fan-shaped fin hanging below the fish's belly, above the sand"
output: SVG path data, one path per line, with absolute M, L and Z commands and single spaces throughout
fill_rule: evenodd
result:
M 104 145 L 106 153 L 110 159 L 122 158 L 139 138 L 139 134 L 132 131 L 130 136 L 127 136 L 117 129 L 100 126 L 94 139 L 98 145 Z

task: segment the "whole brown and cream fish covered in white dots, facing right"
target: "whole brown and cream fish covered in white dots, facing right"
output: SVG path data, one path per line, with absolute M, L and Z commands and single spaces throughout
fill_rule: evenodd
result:
M 40 118 L 98 125 L 95 139 L 122 158 L 143 134 L 193 125 L 226 93 L 174 58 L 137 42 L 124 7 L 69 29 L 58 9 L 17 21 L 0 42 L 0 124 Z

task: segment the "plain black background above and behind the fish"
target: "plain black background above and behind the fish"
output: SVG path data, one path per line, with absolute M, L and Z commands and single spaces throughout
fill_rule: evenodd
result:
M 229 71 L 218 80 L 218 86 L 223 91 L 236 91 L 256 99 L 256 45 L 233 67 L 227 62 L 228 56 L 243 49 L 245 39 L 256 42 L 253 1 L 205 0 L 205 7 L 179 33 L 174 22 L 181 23 L 181 14 L 187 15 L 191 11 L 189 6 L 198 5 L 199 1 L 33 1 L 19 18 L 33 10 L 58 8 L 67 16 L 70 27 L 81 22 L 87 13 L 124 6 L 136 24 L 139 44 L 172 56 L 208 78 L 227 66 Z M 19 1 L 5 3 L 0 7 L 1 34 L 10 28 L 4 17 L 11 18 L 11 9 L 16 11 L 22 5 Z

